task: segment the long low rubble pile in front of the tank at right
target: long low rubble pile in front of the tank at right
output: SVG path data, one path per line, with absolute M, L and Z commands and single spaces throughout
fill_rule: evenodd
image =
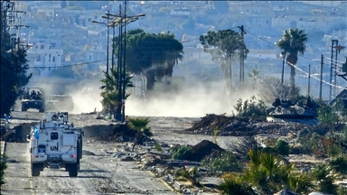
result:
M 248 117 L 206 115 L 191 128 L 183 131 L 184 134 L 214 135 L 213 129 L 218 129 L 218 135 L 250 136 L 259 134 L 287 135 L 297 132 L 308 125 L 299 123 L 272 123 L 253 120 Z

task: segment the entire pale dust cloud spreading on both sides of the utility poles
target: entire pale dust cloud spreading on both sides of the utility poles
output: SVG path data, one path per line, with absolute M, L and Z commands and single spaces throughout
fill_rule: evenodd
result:
M 62 81 L 64 80 L 64 81 Z M 155 92 L 145 94 L 145 100 L 135 94 L 127 99 L 127 116 L 177 116 L 201 117 L 206 114 L 231 115 L 233 106 L 239 98 L 249 99 L 256 95 L 251 89 L 234 92 L 231 99 L 226 101 L 223 80 L 214 81 L 189 81 L 179 89 L 167 89 L 166 86 L 156 88 Z M 71 114 L 89 113 L 95 109 L 102 110 L 99 89 L 99 79 L 76 81 L 65 79 L 47 79 L 32 81 L 28 87 L 43 88 L 46 96 L 52 94 L 70 95 L 73 99 Z M 157 84 L 156 84 L 157 85 Z M 159 84 L 160 85 L 160 84 Z M 131 93 L 131 92 L 130 92 Z

